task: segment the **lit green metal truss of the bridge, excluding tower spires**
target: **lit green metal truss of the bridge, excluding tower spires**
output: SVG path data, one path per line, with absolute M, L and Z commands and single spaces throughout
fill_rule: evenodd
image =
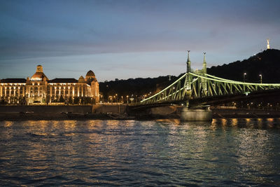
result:
M 188 72 L 164 90 L 142 100 L 138 104 L 175 102 L 222 95 L 248 95 L 250 92 L 276 88 L 280 88 L 280 83 L 246 83 L 219 78 L 209 74 Z

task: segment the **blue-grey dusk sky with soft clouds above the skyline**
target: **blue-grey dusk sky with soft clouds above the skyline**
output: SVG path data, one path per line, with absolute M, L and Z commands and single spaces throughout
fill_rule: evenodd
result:
M 3 1 L 0 78 L 179 75 L 280 48 L 280 1 Z

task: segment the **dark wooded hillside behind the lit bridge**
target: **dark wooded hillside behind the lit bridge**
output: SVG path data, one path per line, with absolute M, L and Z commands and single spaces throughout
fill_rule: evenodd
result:
M 183 73 L 183 72 L 182 72 Z M 252 83 L 260 82 L 262 74 L 262 83 L 280 83 L 280 50 L 265 50 L 249 57 L 247 60 L 223 64 L 222 66 L 211 67 L 207 69 L 208 74 L 221 78 L 228 78 L 235 81 L 245 81 Z M 181 75 L 180 75 L 181 76 Z M 167 85 L 176 81 L 179 77 L 160 76 L 158 78 L 130 78 L 127 80 L 106 81 L 99 84 L 99 89 L 103 99 L 106 101 L 109 96 L 118 95 L 118 101 L 126 101 L 129 97 L 148 97 L 155 92 L 162 90 Z

